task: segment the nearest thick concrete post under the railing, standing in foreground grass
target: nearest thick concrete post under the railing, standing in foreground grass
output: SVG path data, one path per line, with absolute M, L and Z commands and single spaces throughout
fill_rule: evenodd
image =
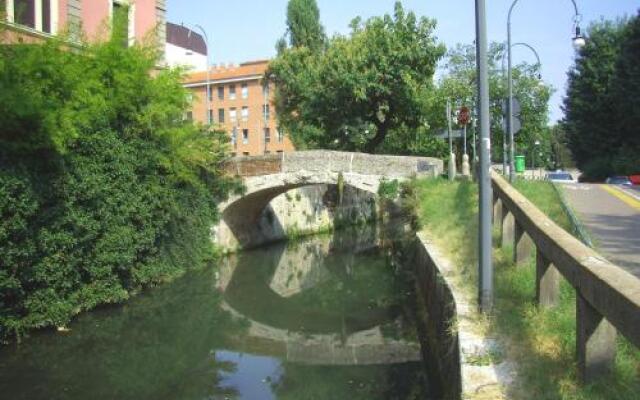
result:
M 576 301 L 578 376 L 586 384 L 613 368 L 616 329 L 579 291 L 576 293 Z

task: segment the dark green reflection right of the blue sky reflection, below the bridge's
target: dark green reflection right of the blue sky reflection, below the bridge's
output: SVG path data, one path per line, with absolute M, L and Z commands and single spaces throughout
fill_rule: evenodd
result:
M 279 400 L 425 400 L 425 376 L 417 363 L 369 367 L 306 367 L 283 364 L 273 384 Z

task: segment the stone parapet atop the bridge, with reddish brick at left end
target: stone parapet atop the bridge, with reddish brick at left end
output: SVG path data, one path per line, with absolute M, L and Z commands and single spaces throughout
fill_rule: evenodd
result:
M 334 172 L 390 178 L 438 176 L 443 161 L 431 157 L 387 156 L 330 150 L 297 151 L 258 157 L 235 157 L 225 164 L 227 173 L 252 177 L 277 173 Z

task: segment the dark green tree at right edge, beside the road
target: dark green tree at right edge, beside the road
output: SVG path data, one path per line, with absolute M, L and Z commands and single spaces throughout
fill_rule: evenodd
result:
M 640 16 L 600 21 L 569 72 L 563 127 L 590 179 L 640 173 Z

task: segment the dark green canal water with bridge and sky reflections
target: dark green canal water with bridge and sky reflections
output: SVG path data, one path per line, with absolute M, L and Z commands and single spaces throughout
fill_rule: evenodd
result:
M 231 256 L 0 348 L 0 398 L 423 399 L 388 253 L 360 228 Z

